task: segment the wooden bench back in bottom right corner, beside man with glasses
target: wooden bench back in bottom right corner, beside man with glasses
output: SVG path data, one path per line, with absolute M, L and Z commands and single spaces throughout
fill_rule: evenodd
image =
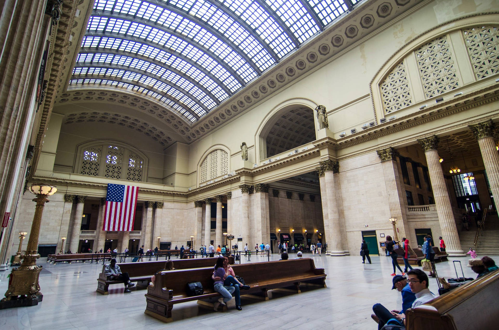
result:
M 499 270 L 406 311 L 407 330 L 498 329 Z

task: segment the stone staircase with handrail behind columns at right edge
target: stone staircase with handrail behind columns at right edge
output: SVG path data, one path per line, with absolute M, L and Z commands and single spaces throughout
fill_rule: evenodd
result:
M 478 239 L 478 244 L 475 247 L 473 241 L 475 240 L 478 228 L 475 220 L 472 219 L 470 231 L 462 230 L 459 232 L 461 248 L 463 251 L 468 252 L 472 247 L 477 251 L 479 257 L 497 256 L 499 255 L 499 217 L 497 213 L 488 213 L 484 226 L 485 228 L 482 230 Z

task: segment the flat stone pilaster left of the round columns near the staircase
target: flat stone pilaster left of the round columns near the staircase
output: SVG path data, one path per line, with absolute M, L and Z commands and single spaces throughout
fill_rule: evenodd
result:
M 393 148 L 387 148 L 378 150 L 376 153 L 378 153 L 378 156 L 381 159 L 381 167 L 383 168 L 390 217 L 397 218 L 396 229 L 399 229 L 399 233 L 394 233 L 394 237 L 408 237 L 406 234 L 408 225 L 405 208 L 405 189 L 402 186 L 397 166 L 398 152 Z M 389 220 L 385 219 L 385 221 L 386 225 L 389 225 Z

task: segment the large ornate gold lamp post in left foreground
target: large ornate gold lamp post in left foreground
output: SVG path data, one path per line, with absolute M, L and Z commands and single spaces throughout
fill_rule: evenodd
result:
M 36 195 L 33 201 L 36 208 L 29 233 L 28 246 L 25 254 L 21 254 L 22 264 L 12 269 L 5 298 L 0 301 L 0 309 L 34 306 L 41 302 L 43 295 L 40 293 L 38 276 L 42 266 L 36 266 L 38 254 L 38 235 L 40 234 L 41 215 L 43 206 L 48 202 L 47 197 L 53 195 L 57 188 L 52 185 L 33 184 L 29 191 Z M 25 297 L 24 297 L 25 296 Z

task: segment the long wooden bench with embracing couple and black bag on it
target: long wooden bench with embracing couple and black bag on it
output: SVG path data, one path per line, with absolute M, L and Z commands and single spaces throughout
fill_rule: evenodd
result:
M 310 258 L 257 262 L 233 266 L 234 272 L 242 276 L 250 290 L 242 295 L 268 300 L 268 290 L 300 292 L 300 283 L 326 287 L 324 269 L 315 268 Z M 156 274 L 155 286 L 149 286 L 146 296 L 145 314 L 164 322 L 172 322 L 175 304 L 198 301 L 198 304 L 213 308 L 213 301 L 220 297 L 213 289 L 213 267 L 162 271 Z M 187 283 L 201 282 L 204 294 L 188 296 Z

